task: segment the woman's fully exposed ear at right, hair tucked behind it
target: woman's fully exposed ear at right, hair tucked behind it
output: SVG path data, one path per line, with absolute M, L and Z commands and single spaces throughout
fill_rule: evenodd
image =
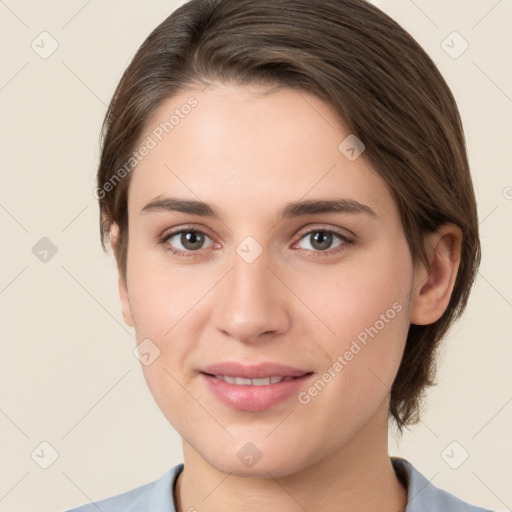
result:
M 460 264 L 462 231 L 444 224 L 427 236 L 425 250 L 430 270 L 418 262 L 411 292 L 410 322 L 428 325 L 439 320 L 450 302 Z

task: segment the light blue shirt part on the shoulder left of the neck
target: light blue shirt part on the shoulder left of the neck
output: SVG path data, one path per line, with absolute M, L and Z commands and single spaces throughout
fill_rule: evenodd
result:
M 172 488 L 182 470 L 178 464 L 158 480 L 66 512 L 175 512 Z

